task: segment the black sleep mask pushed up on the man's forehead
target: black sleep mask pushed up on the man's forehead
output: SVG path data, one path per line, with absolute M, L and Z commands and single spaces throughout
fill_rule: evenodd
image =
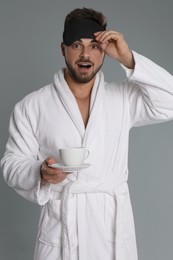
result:
M 63 42 L 70 46 L 82 38 L 95 39 L 94 33 L 104 31 L 96 22 L 91 20 L 76 20 L 70 23 L 63 32 Z

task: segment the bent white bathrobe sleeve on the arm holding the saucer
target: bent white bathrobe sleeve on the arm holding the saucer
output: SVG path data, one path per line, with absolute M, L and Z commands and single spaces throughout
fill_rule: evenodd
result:
M 50 185 L 40 188 L 39 144 L 23 102 L 18 103 L 9 124 L 9 139 L 1 160 L 4 179 L 19 195 L 40 205 L 49 199 Z

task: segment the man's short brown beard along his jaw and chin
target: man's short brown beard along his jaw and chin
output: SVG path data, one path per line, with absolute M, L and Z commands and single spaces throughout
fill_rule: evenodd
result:
M 88 83 L 90 82 L 94 77 L 95 75 L 97 74 L 97 72 L 101 69 L 103 63 L 96 69 L 94 70 L 90 75 L 84 75 L 83 76 L 80 76 L 76 73 L 75 69 L 67 62 L 67 60 L 65 59 L 65 62 L 66 62 L 66 65 L 67 65 L 67 68 L 71 74 L 71 77 L 77 82 L 77 83 Z M 86 62 L 86 61 L 85 61 Z

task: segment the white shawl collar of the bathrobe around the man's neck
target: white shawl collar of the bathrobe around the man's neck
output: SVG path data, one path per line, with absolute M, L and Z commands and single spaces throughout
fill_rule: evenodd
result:
M 75 124 L 77 131 L 82 138 L 82 146 L 86 146 L 86 142 L 89 141 L 87 138 L 88 134 L 90 133 L 91 137 L 96 134 L 94 131 L 94 125 L 97 124 L 99 114 L 98 111 L 103 107 L 104 75 L 102 71 L 99 71 L 96 74 L 94 86 L 91 93 L 90 115 L 86 128 L 76 99 L 64 78 L 63 69 L 59 70 L 55 74 L 54 86 L 56 88 L 56 91 L 58 92 L 58 96 L 61 99 L 64 108 L 66 109 L 70 119 Z

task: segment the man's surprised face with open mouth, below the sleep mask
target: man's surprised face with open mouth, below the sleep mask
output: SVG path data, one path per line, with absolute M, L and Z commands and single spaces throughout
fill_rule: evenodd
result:
M 100 70 L 104 52 L 93 39 L 81 39 L 70 46 L 62 44 L 67 73 L 77 83 L 88 83 Z

